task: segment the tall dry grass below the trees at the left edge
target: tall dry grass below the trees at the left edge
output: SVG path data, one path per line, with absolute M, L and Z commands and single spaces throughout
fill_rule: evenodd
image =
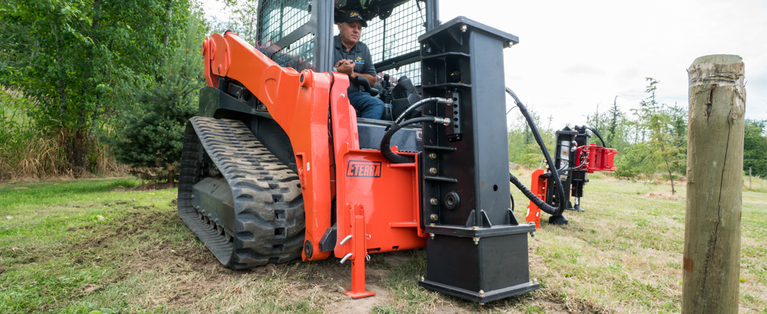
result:
M 61 149 L 60 132 L 44 130 L 30 113 L 38 101 L 20 90 L 0 87 L 0 181 L 81 177 Z M 91 171 L 114 175 L 126 172 L 104 145 L 95 145 L 89 156 Z

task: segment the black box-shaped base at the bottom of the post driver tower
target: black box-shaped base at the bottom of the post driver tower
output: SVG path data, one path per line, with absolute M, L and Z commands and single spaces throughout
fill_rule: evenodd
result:
M 426 278 L 419 286 L 478 303 L 540 288 L 530 281 L 528 233 L 534 225 L 427 227 Z

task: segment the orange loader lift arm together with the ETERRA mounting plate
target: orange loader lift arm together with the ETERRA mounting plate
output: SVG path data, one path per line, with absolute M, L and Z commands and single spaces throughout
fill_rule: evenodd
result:
M 393 165 L 380 151 L 359 148 L 357 119 L 346 96 L 346 75 L 299 73 L 280 67 L 232 32 L 212 35 L 204 42 L 202 54 L 209 86 L 217 87 L 218 77 L 239 81 L 264 103 L 291 140 L 304 198 L 305 240 L 313 249 L 310 257 L 304 250 L 304 260 L 331 256 L 319 250 L 319 242 L 331 227 L 334 198 L 336 257 L 352 253 L 355 246 L 359 251 L 360 245 L 370 253 L 426 246 L 426 233 L 420 227 L 416 162 Z M 355 206 L 362 209 L 350 211 Z M 360 214 L 365 222 L 360 229 L 364 240 L 347 240 L 341 245 L 344 237 L 353 234 L 352 224 L 359 221 L 356 216 Z M 348 258 L 353 263 L 357 260 Z

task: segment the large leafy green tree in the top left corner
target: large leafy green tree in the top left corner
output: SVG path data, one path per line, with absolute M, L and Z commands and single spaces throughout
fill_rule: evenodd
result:
M 40 100 L 39 127 L 60 137 L 72 168 L 87 169 L 118 82 L 154 77 L 186 15 L 183 0 L 8 0 L 0 37 L 23 29 L 24 40 L 4 52 L 18 59 L 0 78 Z

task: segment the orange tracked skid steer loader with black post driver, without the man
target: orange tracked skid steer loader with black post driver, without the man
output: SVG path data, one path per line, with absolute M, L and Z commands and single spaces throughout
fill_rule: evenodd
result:
M 510 206 L 505 47 L 512 34 L 436 0 L 262 0 L 258 41 L 213 34 L 189 119 L 179 216 L 232 269 L 426 247 L 420 286 L 479 303 L 538 289 Z M 334 15 L 354 10 L 384 79 L 382 119 L 357 118 L 331 72 Z M 385 73 L 385 74 L 384 74 Z M 390 78 L 397 77 L 397 80 Z M 360 82 L 365 83 L 365 82 Z M 556 176 L 555 176 L 556 177 Z

